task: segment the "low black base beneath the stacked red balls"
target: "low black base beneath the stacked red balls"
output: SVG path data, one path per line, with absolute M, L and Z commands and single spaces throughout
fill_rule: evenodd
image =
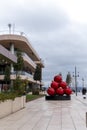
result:
M 55 96 L 45 96 L 46 100 L 71 100 L 70 95 L 55 95 Z

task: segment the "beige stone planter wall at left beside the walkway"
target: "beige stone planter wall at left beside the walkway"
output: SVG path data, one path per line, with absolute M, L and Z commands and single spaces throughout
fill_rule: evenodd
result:
M 0 102 L 0 118 L 19 111 L 25 107 L 26 96 L 17 97 L 15 100 Z

